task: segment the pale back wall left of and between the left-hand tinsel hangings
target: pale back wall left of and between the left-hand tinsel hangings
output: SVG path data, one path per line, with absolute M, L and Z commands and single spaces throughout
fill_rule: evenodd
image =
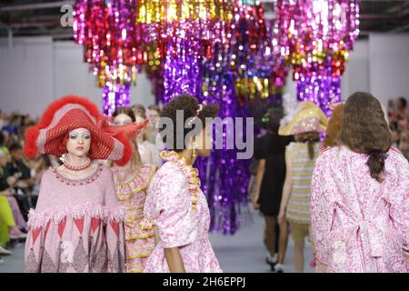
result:
M 38 116 L 46 105 L 64 95 L 88 97 L 102 108 L 102 88 L 83 62 L 83 47 L 74 42 L 53 42 L 49 37 L 0 39 L 0 108 Z M 155 103 L 145 74 L 137 75 L 131 104 Z

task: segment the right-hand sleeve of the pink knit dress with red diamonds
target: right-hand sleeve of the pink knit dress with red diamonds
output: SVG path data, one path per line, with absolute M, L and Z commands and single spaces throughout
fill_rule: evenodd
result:
M 105 167 L 105 239 L 109 256 L 109 270 L 112 273 L 125 272 L 125 212 L 116 198 L 112 171 Z

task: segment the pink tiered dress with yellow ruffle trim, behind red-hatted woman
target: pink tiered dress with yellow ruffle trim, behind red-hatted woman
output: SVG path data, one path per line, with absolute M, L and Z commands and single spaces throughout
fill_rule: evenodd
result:
M 155 247 L 153 229 L 143 229 L 139 224 L 144 218 L 146 189 L 156 167 L 141 166 L 132 178 L 120 180 L 118 174 L 123 170 L 121 166 L 113 167 L 116 195 L 125 209 L 126 272 L 142 273 L 147 257 Z

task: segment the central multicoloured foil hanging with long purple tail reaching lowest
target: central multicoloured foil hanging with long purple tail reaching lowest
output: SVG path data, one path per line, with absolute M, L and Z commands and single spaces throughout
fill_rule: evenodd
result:
M 235 127 L 236 117 L 248 116 L 249 100 L 255 95 L 267 98 L 273 92 L 269 81 L 275 60 L 268 55 L 273 50 L 266 29 L 260 2 L 235 1 L 230 42 L 214 44 L 212 57 L 204 59 L 202 99 L 219 105 L 224 124 Z M 247 194 L 250 160 L 237 159 L 239 151 L 227 146 L 228 136 L 245 135 L 246 131 L 245 123 L 239 131 L 214 128 L 214 136 L 223 136 L 223 150 L 214 150 L 208 159 L 197 161 L 210 207 L 211 231 L 233 235 L 245 221 L 251 221 Z

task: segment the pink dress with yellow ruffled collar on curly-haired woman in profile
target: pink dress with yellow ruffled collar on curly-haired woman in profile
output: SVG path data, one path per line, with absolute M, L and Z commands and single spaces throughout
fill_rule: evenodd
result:
M 187 273 L 222 272 L 209 241 L 210 214 L 200 189 L 197 169 L 175 152 L 152 178 L 145 202 L 145 218 L 154 221 L 160 242 L 149 256 L 145 273 L 169 273 L 164 248 L 180 248 Z

